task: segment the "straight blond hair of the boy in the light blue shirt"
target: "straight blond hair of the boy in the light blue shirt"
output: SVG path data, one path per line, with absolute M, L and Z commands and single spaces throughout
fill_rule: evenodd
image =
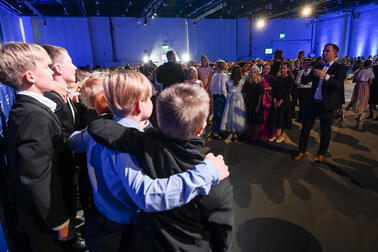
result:
M 141 73 L 118 69 L 110 72 L 103 82 L 109 109 L 119 116 L 129 115 L 138 101 L 151 97 L 151 82 Z

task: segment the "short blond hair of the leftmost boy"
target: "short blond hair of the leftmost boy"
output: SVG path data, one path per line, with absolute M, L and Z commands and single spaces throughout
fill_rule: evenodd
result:
M 37 44 L 9 42 L 0 45 L 0 81 L 16 90 L 28 87 L 23 81 L 25 71 L 34 70 L 37 61 L 49 59 Z

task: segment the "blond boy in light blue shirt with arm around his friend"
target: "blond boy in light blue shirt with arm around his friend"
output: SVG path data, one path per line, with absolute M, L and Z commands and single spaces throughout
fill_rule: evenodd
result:
M 106 100 L 114 114 L 113 120 L 98 120 L 100 124 L 102 121 L 114 124 L 105 128 L 111 134 L 108 140 L 117 136 L 116 126 L 122 132 L 126 127 L 143 131 L 152 112 L 149 80 L 134 71 L 114 71 L 108 74 L 103 84 Z M 87 131 L 74 133 L 69 143 L 75 151 L 87 151 L 88 170 L 98 210 L 86 233 L 90 251 L 127 251 L 133 224 L 140 218 L 139 209 L 151 212 L 178 207 L 197 194 L 207 194 L 211 182 L 216 182 L 213 177 L 215 169 L 203 164 L 169 179 L 152 180 L 150 177 L 157 178 L 154 167 L 140 159 L 139 166 L 131 154 L 97 144 Z M 161 168 L 176 166 L 176 163 L 163 163 Z M 150 177 L 144 175 L 140 167 Z M 223 172 L 219 172 L 222 179 Z

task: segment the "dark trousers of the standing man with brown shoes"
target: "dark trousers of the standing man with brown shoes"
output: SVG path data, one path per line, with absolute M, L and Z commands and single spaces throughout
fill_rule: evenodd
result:
M 302 120 L 301 136 L 299 138 L 298 150 L 300 152 L 306 152 L 308 138 L 310 137 L 310 131 L 314 125 L 316 117 L 319 117 L 320 119 L 320 145 L 318 154 L 324 155 L 327 152 L 331 140 L 331 123 L 333 114 L 334 111 L 326 111 L 324 109 L 322 102 L 314 102 L 306 106 Z

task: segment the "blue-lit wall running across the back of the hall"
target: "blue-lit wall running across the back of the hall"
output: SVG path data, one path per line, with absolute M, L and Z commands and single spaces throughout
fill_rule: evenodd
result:
M 306 55 L 321 55 L 324 44 L 329 42 L 340 46 L 340 56 L 375 55 L 377 16 L 378 5 L 371 4 L 355 8 L 353 13 L 321 16 L 314 20 L 314 25 L 309 19 L 274 19 L 258 30 L 253 22 L 251 31 L 246 18 L 203 19 L 195 26 L 193 20 L 180 18 L 148 19 L 147 26 L 136 18 L 22 17 L 22 21 L 27 42 L 63 46 L 76 65 L 135 65 L 141 63 L 144 54 L 161 62 L 163 43 L 176 50 L 179 57 L 189 51 L 197 61 L 202 54 L 212 61 L 249 59 L 250 32 L 252 58 L 270 58 L 265 54 L 266 48 L 282 49 L 287 58 L 296 57 L 300 49 Z M 17 15 L 0 8 L 0 22 L 5 41 L 22 41 Z M 284 39 L 280 39 L 281 33 L 285 34 Z

